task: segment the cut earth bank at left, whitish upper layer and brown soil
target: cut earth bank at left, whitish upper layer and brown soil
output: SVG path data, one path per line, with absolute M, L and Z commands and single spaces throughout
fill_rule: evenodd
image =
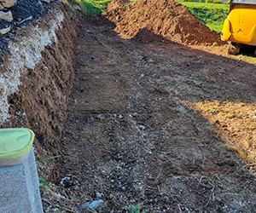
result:
M 16 34 L 0 67 L 0 125 L 33 130 L 37 159 L 56 156 L 73 87 L 78 24 L 61 5 Z M 38 167 L 49 181 L 59 170 L 57 161 Z

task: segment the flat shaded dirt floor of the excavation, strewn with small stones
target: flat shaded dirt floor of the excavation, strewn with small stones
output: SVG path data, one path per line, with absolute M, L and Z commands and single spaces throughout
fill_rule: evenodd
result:
M 115 27 L 104 16 L 81 24 L 59 188 L 78 212 L 256 212 L 254 176 L 212 131 L 222 121 L 189 105 L 253 105 L 255 65 L 224 47 L 187 47 L 147 29 L 124 39 Z

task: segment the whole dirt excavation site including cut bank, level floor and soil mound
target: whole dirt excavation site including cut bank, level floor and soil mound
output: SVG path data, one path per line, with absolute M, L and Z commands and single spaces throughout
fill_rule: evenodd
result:
M 0 124 L 33 130 L 37 160 L 61 155 L 38 164 L 44 212 L 256 212 L 233 146 L 255 148 L 253 62 L 172 0 L 29 2 L 1 35 Z

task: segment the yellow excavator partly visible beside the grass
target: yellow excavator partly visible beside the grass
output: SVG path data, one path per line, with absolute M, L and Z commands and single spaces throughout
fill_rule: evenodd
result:
M 242 44 L 256 48 L 256 0 L 230 0 L 230 14 L 224 20 L 221 39 L 229 41 L 230 55 L 239 54 Z

